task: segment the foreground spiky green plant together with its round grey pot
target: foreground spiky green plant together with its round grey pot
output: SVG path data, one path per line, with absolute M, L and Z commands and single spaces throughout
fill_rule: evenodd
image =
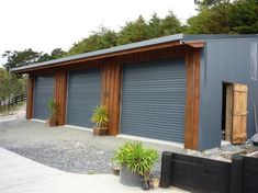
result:
M 150 171 L 158 160 L 155 149 L 144 148 L 142 143 L 126 143 L 117 149 L 113 161 L 121 164 L 120 181 L 128 186 L 150 188 Z

